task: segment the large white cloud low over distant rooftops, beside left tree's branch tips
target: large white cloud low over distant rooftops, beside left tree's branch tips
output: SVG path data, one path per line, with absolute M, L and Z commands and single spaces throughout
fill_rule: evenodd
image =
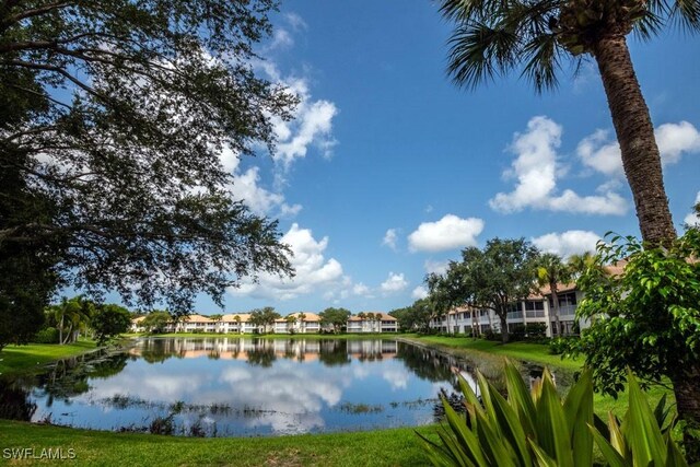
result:
M 328 237 L 316 241 L 311 230 L 301 229 L 294 223 L 280 241 L 292 249 L 290 262 L 296 271 L 294 278 L 261 275 L 258 283 L 245 282 L 238 289 L 229 289 L 230 293 L 256 299 L 290 300 L 342 285 L 342 266 L 335 258 L 324 257 Z

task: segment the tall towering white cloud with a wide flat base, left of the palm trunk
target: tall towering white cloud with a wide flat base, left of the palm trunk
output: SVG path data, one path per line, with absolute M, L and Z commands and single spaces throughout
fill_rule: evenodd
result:
M 499 192 L 489 201 L 500 212 L 518 212 L 525 208 L 586 214 L 617 214 L 627 212 L 627 201 L 614 191 L 598 196 L 580 196 L 571 189 L 557 192 L 557 178 L 561 174 L 557 150 L 561 144 L 562 128 L 553 120 L 540 116 L 527 122 L 527 131 L 516 133 L 510 150 L 515 153 L 511 168 L 505 172 L 515 178 L 515 189 Z

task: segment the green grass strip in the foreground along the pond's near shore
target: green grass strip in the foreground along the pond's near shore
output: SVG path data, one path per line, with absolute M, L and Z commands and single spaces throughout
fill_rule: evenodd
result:
M 434 427 L 420 428 L 431 433 Z M 191 439 L 120 434 L 0 420 L 0 453 L 74 450 L 70 465 L 423 466 L 413 429 L 280 437 Z M 32 462 L 30 462 L 31 464 Z M 38 463 L 38 460 L 34 460 Z M 24 465 L 24 464 L 23 464 Z

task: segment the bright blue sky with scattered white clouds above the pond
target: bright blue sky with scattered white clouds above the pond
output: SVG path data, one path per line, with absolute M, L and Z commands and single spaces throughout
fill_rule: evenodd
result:
M 244 281 L 223 312 L 388 312 L 493 237 L 568 256 L 639 235 L 594 62 L 539 95 L 517 73 L 465 90 L 434 2 L 287 0 L 272 20 L 256 69 L 302 98 L 296 118 L 275 122 L 275 155 L 222 161 L 234 194 L 279 219 L 296 276 Z M 629 38 L 679 232 L 700 201 L 699 45 Z M 196 311 L 221 313 L 206 296 Z

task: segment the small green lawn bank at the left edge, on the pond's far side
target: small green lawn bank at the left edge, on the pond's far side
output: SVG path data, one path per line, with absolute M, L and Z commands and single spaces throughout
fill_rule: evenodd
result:
M 65 346 L 58 343 L 8 346 L 0 351 L 0 374 L 34 373 L 55 360 L 90 352 L 96 348 L 95 341 L 88 339 Z

